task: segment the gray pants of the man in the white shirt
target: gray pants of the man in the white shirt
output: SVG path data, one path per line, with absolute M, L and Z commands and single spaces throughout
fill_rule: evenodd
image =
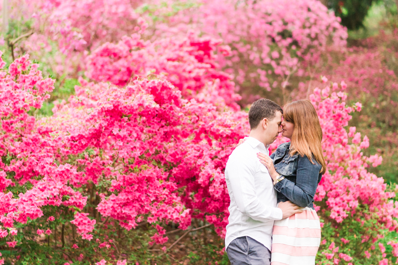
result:
M 235 238 L 227 248 L 231 265 L 270 265 L 271 251 L 251 237 Z

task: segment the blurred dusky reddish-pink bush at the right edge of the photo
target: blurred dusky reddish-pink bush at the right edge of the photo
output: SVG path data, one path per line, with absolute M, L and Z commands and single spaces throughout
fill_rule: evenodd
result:
M 386 182 L 396 182 L 398 176 L 397 34 L 396 29 L 392 34 L 380 33 L 377 38 L 363 40 L 359 47 L 328 49 L 316 64 L 308 65 L 316 78 L 299 83 L 289 95 L 308 97 L 313 87 L 320 85 L 319 75 L 335 83 L 330 86 L 333 91 L 339 91 L 337 83 L 344 80 L 341 89 L 347 93 L 346 101 L 352 104 L 361 99 L 362 103 L 362 111 L 353 115 L 350 126 L 369 137 L 372 144 L 364 154 L 383 155 L 383 164 L 371 172 Z

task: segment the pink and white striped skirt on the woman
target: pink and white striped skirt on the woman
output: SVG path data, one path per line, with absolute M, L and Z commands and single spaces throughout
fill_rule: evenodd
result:
M 275 221 L 271 265 L 315 265 L 319 244 L 318 215 L 305 207 L 301 213 Z

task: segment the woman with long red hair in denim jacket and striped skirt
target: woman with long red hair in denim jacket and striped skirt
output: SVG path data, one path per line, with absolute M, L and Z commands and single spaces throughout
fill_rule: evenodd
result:
M 314 265 L 320 244 L 320 222 L 313 198 L 326 171 L 322 130 L 315 108 L 307 100 L 285 105 L 282 135 L 291 141 L 271 155 L 258 153 L 274 180 L 278 202 L 290 200 L 302 213 L 275 221 L 271 265 Z

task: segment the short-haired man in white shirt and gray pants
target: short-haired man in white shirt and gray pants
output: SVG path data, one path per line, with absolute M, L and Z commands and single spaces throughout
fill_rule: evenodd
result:
M 282 108 L 259 99 L 249 110 L 250 135 L 229 156 L 225 180 L 228 207 L 225 248 L 232 265 L 270 265 L 274 220 L 302 212 L 290 201 L 277 207 L 276 191 L 268 169 L 257 158 L 282 132 Z

